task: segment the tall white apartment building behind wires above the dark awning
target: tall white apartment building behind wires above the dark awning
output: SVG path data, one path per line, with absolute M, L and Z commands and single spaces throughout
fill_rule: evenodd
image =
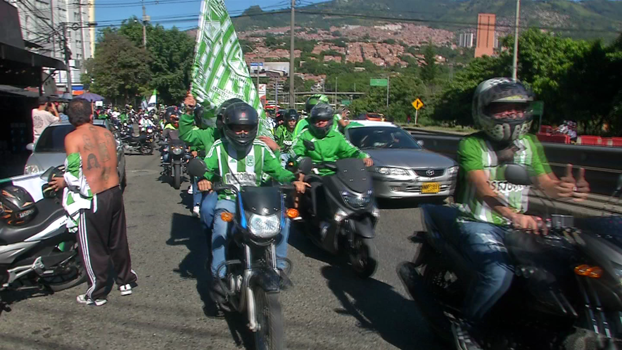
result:
M 7 1 L 7 0 L 5 0 Z M 38 54 L 65 60 L 63 38 L 71 51 L 70 67 L 73 90 L 82 90 L 80 83 L 83 62 L 95 54 L 95 0 L 8 0 L 17 7 L 22 37 L 36 45 Z M 67 87 L 67 72 L 56 72 L 58 90 Z

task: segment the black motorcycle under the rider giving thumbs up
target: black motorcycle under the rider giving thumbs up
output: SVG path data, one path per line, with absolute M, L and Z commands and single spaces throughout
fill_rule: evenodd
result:
M 508 164 L 504 173 L 511 184 L 531 185 L 524 166 Z M 606 232 L 577 229 L 572 216 L 553 214 L 546 222 L 547 235 L 508 227 L 504 243 L 516 277 L 477 340 L 492 349 L 564 349 L 592 341 L 598 349 L 618 349 L 622 248 Z M 443 232 L 417 232 L 411 240 L 415 257 L 398 265 L 397 275 L 430 328 L 453 341 L 451 323 L 462 318 L 465 291 L 478 272 Z

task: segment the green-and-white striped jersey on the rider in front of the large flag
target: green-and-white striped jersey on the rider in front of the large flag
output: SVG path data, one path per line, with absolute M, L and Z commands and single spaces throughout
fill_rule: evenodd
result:
M 205 178 L 212 182 L 220 178 L 223 184 L 233 185 L 238 189 L 241 186 L 260 186 L 264 174 L 278 182 L 290 182 L 295 179 L 294 173 L 283 169 L 279 158 L 259 140 L 253 141 L 253 147 L 246 156 L 233 157 L 230 154 L 236 154 L 236 151 L 228 143 L 216 141 L 205 157 L 207 165 Z M 218 199 L 233 201 L 235 195 L 230 191 L 224 191 L 218 194 Z

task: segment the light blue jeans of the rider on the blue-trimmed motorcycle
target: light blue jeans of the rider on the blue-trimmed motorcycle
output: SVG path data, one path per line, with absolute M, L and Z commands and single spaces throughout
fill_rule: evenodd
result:
M 227 247 L 227 235 L 230 229 L 229 222 L 224 222 L 220 218 L 222 212 L 230 212 L 235 214 L 237 209 L 236 202 L 227 199 L 220 199 L 216 202 L 214 229 L 211 234 L 211 275 L 216 276 L 216 268 L 225 261 L 225 251 Z M 201 209 L 203 210 L 203 209 Z M 201 214 L 203 217 L 203 213 Z M 281 227 L 281 241 L 276 242 L 277 267 L 285 268 L 285 262 L 278 259 L 287 257 L 287 237 L 289 237 L 290 220 L 285 219 L 285 225 Z M 220 278 L 224 278 L 226 268 L 220 270 Z

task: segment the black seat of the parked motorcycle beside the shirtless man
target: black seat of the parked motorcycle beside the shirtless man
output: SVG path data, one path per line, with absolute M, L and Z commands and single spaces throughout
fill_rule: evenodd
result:
M 22 242 L 45 230 L 60 217 L 65 216 L 65 209 L 53 198 L 45 198 L 35 203 L 37 216 L 22 226 L 11 226 L 0 222 L 0 245 Z

